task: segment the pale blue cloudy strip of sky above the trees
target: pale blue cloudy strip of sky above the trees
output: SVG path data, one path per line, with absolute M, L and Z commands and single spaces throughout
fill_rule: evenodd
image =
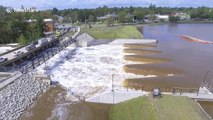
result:
M 39 10 L 67 8 L 148 7 L 150 3 L 162 7 L 213 7 L 213 0 L 0 0 L 0 5 L 15 9 L 36 7 Z

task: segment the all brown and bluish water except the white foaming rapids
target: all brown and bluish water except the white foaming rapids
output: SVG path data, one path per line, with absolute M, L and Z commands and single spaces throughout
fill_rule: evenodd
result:
M 213 24 L 179 24 L 141 27 L 145 38 L 157 39 L 158 44 L 126 44 L 126 53 L 146 55 L 153 64 L 130 64 L 124 70 L 141 75 L 154 74 L 158 77 L 129 78 L 124 84 L 131 88 L 151 90 L 154 87 L 169 91 L 172 87 L 198 88 L 204 79 L 213 78 L 213 45 L 189 43 L 176 34 L 185 34 L 213 41 Z M 108 42 L 108 41 L 107 41 Z M 99 43 L 98 43 L 99 44 Z M 127 56 L 128 57 L 128 56 Z M 134 58 L 132 60 L 132 58 Z M 148 59 L 149 58 L 149 59 Z M 161 60 L 156 59 L 161 58 Z M 137 59 L 136 61 L 134 61 Z M 133 62 L 143 61 L 144 57 L 131 56 Z M 158 61 L 156 64 L 155 61 Z M 170 74 L 170 75 L 169 75 Z M 173 76 L 171 76 L 173 75 Z M 213 117 L 213 103 L 200 102 L 201 106 Z M 111 105 L 93 104 L 67 99 L 66 89 L 51 87 L 20 118 L 21 120 L 107 120 Z

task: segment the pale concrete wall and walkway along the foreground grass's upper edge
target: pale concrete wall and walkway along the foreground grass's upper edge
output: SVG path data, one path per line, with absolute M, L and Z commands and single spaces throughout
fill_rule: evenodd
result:
M 120 102 L 124 102 L 133 98 L 146 96 L 148 92 L 141 90 L 118 90 L 118 91 L 108 91 L 97 96 L 86 99 L 87 102 L 95 102 L 95 103 L 105 103 L 105 104 L 117 104 Z M 199 92 L 163 92 L 162 94 L 169 94 L 174 96 L 186 96 L 191 99 L 195 99 L 197 101 L 213 101 L 213 93 L 211 93 L 205 87 L 200 88 Z

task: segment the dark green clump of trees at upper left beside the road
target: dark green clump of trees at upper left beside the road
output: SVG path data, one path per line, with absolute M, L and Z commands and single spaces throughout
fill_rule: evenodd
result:
M 19 42 L 19 38 L 25 38 L 26 44 L 42 37 L 43 19 L 50 18 L 52 13 L 51 11 L 8 13 L 5 7 L 0 6 L 0 16 L 0 44 Z M 29 19 L 36 21 L 26 22 Z

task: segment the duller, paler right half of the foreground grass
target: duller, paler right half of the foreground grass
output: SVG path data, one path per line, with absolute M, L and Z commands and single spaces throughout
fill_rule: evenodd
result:
M 159 120 L 208 120 L 195 101 L 187 97 L 164 96 L 155 101 Z

